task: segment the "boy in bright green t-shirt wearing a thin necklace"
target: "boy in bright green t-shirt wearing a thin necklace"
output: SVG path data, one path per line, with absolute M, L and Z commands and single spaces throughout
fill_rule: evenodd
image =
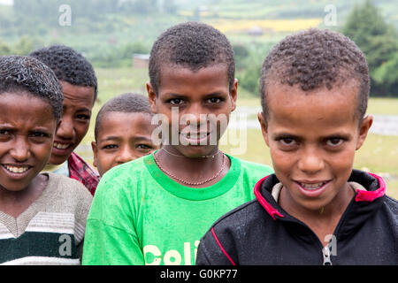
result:
M 224 34 L 195 22 L 169 28 L 152 47 L 149 78 L 163 147 L 103 175 L 83 264 L 195 264 L 210 225 L 272 173 L 218 149 L 238 87 Z

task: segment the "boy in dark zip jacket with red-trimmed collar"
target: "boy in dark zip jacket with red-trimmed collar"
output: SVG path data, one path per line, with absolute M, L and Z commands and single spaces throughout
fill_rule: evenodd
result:
M 196 264 L 398 264 L 398 203 L 353 170 L 372 117 L 369 72 L 342 34 L 287 36 L 264 60 L 258 119 L 275 173 L 210 227 Z

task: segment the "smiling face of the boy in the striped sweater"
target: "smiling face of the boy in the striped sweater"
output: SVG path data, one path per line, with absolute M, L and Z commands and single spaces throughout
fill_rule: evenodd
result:
M 0 95 L 0 188 L 20 191 L 51 155 L 57 121 L 50 104 L 29 95 Z

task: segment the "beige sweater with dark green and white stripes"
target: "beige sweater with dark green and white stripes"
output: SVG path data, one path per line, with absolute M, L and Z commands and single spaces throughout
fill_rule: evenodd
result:
M 0 208 L 0 264 L 80 264 L 92 196 L 77 180 L 45 174 L 47 187 L 18 218 Z

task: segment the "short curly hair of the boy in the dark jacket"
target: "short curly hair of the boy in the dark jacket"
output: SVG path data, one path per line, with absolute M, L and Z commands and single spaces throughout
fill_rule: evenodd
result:
M 264 119 L 268 119 L 267 86 L 271 81 L 303 91 L 332 89 L 347 80 L 359 85 L 356 114 L 362 120 L 370 92 L 369 69 L 364 53 L 348 37 L 330 30 L 310 28 L 288 35 L 265 57 L 260 77 Z

